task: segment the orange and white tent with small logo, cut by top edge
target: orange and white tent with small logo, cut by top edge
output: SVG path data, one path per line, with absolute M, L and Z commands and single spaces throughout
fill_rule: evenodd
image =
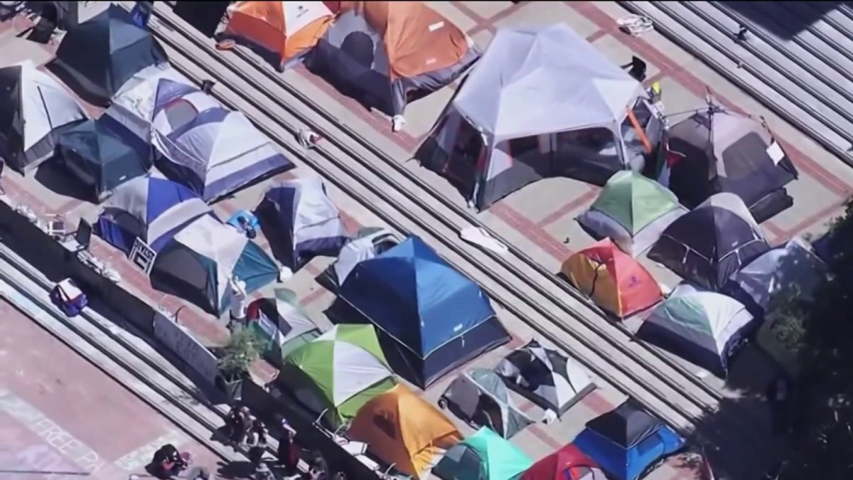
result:
M 334 15 L 325 2 L 236 2 L 225 35 L 245 38 L 287 61 L 316 45 Z

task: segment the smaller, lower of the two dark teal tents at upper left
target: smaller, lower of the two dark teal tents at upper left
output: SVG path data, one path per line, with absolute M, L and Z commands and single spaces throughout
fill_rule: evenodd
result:
M 109 128 L 102 120 L 87 120 L 62 133 L 56 151 L 67 170 L 98 200 L 151 168 L 144 143 Z

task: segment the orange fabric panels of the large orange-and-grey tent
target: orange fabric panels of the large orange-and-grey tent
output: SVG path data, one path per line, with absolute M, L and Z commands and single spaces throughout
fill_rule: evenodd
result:
M 339 8 L 341 15 L 362 16 L 382 38 L 392 80 L 452 67 L 471 48 L 458 26 L 423 2 L 340 2 Z

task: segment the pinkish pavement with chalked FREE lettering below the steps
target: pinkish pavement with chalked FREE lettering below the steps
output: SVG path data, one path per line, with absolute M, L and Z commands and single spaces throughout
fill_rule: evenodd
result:
M 126 478 L 164 440 L 215 468 L 218 457 L 9 303 L 0 315 L 0 477 Z

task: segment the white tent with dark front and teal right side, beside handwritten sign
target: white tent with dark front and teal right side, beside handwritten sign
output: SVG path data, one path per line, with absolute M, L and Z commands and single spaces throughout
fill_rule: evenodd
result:
M 151 286 L 183 298 L 208 313 L 229 307 L 229 281 L 238 278 L 251 294 L 278 277 L 276 262 L 257 243 L 212 215 L 194 220 L 157 253 Z

